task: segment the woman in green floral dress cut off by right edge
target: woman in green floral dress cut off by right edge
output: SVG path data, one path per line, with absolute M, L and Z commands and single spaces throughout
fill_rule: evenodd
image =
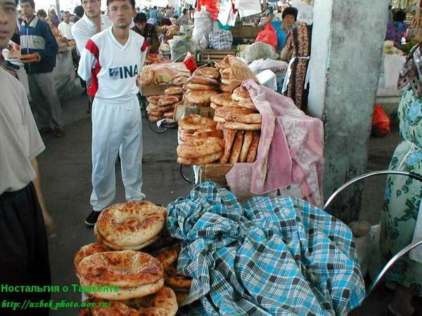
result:
M 417 46 L 409 54 L 400 73 L 399 88 L 407 86 L 399 104 L 399 143 L 390 162 L 390 169 L 422 174 L 422 51 Z M 381 220 L 381 253 L 386 263 L 412 242 L 421 209 L 422 183 L 405 176 L 389 176 L 385 188 L 385 204 Z M 412 256 L 411 256 L 412 257 Z M 416 259 L 416 260 L 414 260 Z M 385 276 L 397 288 L 388 305 L 391 315 L 412 315 L 411 298 L 422 294 L 422 258 L 404 256 Z

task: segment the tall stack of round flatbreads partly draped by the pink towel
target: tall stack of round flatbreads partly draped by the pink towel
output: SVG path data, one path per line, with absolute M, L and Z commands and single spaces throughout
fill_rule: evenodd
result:
M 191 114 L 179 121 L 179 164 L 255 162 L 262 115 L 239 86 L 254 78 L 245 67 L 227 56 L 215 68 L 196 70 L 184 84 L 185 104 L 210 106 L 215 112 L 213 119 Z

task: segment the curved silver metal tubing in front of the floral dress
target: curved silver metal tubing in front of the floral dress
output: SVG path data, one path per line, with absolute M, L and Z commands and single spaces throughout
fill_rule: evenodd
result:
M 379 175 L 383 175 L 383 174 L 395 174 L 395 175 L 399 175 L 399 176 L 408 176 L 409 178 L 412 178 L 414 180 L 418 180 L 418 181 L 422 182 L 422 176 L 420 174 L 414 173 L 414 172 L 397 171 L 397 170 L 381 170 L 381 171 L 373 171 L 373 172 L 365 173 L 362 176 L 358 176 L 356 178 L 353 178 L 352 180 L 347 181 L 347 183 L 345 183 L 344 185 L 339 187 L 337 190 L 335 190 L 335 192 L 331 195 L 331 197 L 329 197 L 327 199 L 327 202 L 326 202 L 326 204 L 324 204 L 323 209 L 326 209 L 328 207 L 328 205 L 330 205 L 331 202 L 333 202 L 335 197 L 340 192 L 345 190 L 346 187 L 349 187 L 353 183 L 357 183 L 360 180 L 364 180 L 364 179 L 370 178 L 372 176 L 379 176 Z M 405 246 L 401 251 L 397 252 L 397 254 L 395 254 L 395 256 L 393 256 L 390 259 L 390 261 L 388 261 L 388 263 L 384 266 L 383 270 L 381 270 L 381 272 L 376 276 L 376 278 L 373 280 L 372 284 L 366 290 L 365 298 L 368 298 L 369 295 L 371 295 L 372 291 L 381 282 L 381 279 L 383 279 L 385 273 L 388 272 L 388 270 L 392 267 L 392 265 L 394 265 L 397 261 L 399 261 L 399 259 L 402 258 L 402 256 L 404 256 L 409 251 L 411 251 L 411 249 L 414 249 L 417 246 L 421 246 L 421 245 L 422 245 L 422 240 L 419 240 L 418 242 L 414 242 L 412 244 Z

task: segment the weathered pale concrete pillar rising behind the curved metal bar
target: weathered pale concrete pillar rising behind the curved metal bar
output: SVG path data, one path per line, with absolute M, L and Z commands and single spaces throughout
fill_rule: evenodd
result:
M 315 0 L 308 111 L 324 121 L 324 196 L 365 173 L 389 0 Z M 362 185 L 331 207 L 359 216 Z M 333 211 L 335 210 L 335 211 Z

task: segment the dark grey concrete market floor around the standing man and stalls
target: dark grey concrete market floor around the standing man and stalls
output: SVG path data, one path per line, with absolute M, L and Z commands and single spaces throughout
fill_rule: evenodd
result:
M 75 91 L 77 93 L 77 91 Z M 39 156 L 41 183 L 49 212 L 56 223 L 57 236 L 49 240 L 53 284 L 77 284 L 73 258 L 78 249 L 94 242 L 92 229 L 84 225 L 91 211 L 91 122 L 87 114 L 87 97 L 75 94 L 62 101 L 67 120 L 66 137 L 56 139 L 45 135 L 46 150 Z M 143 120 L 143 190 L 147 199 L 167 205 L 177 197 L 186 195 L 191 185 L 179 174 L 176 164 L 175 130 L 163 134 L 153 133 Z M 395 146 L 399 143 L 397 126 L 386 138 L 371 138 L 368 170 L 386 169 Z M 116 202 L 124 201 L 120 169 L 117 168 Z M 385 178 L 366 180 L 362 219 L 378 223 L 383 202 Z M 79 301 L 80 293 L 53 294 L 53 299 Z M 382 315 L 392 294 L 378 289 L 362 308 L 352 315 Z M 76 315 L 76 310 L 63 309 L 52 315 Z M 422 315 L 422 314 L 421 314 Z

